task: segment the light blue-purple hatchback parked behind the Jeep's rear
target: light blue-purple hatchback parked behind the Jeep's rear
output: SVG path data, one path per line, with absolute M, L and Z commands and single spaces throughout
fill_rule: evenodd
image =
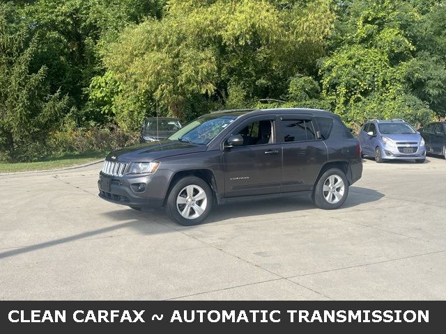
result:
M 360 130 L 362 156 L 374 157 L 378 163 L 386 160 L 426 160 L 424 139 L 404 120 L 369 120 Z

